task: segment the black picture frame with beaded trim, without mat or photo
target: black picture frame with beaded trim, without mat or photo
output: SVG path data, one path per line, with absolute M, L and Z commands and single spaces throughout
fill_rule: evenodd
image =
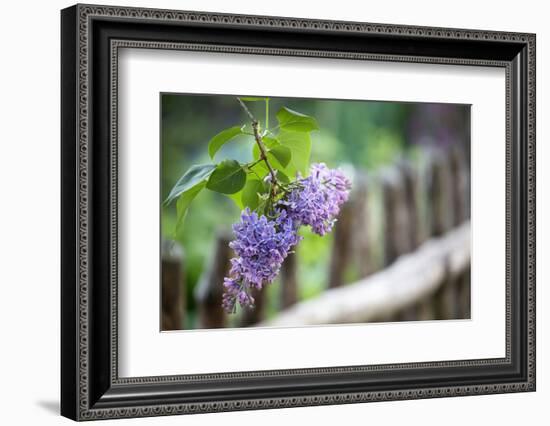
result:
M 61 12 L 61 414 L 74 420 L 535 390 L 535 35 L 97 5 Z M 506 70 L 506 357 L 119 378 L 117 49 Z M 495 212 L 504 214 L 504 212 Z

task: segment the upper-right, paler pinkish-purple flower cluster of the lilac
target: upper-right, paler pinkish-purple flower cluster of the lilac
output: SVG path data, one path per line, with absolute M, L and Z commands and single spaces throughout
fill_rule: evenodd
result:
M 310 226 L 318 235 L 332 230 L 340 208 L 349 196 L 351 182 L 338 169 L 312 164 L 306 178 L 298 175 L 298 188 L 280 201 L 295 224 Z

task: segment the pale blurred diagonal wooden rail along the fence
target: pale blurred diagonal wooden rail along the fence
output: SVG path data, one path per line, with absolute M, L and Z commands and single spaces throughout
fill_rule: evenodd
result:
M 300 302 L 262 325 L 296 326 L 375 321 L 430 297 L 470 264 L 469 222 L 425 242 L 388 268 Z M 441 315 L 446 317 L 448 315 Z

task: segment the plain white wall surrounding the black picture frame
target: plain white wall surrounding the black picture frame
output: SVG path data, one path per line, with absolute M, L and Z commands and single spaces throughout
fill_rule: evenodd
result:
M 157 419 L 131 424 L 464 425 L 544 424 L 550 401 L 550 28 L 540 0 L 361 2 L 339 0 L 120 0 L 104 4 L 526 31 L 537 33 L 538 390 L 422 401 L 295 408 Z M 67 1 L 4 2 L 0 50 L 0 394 L 2 424 L 62 424 L 59 395 L 59 9 Z M 540 418 L 540 420 L 536 420 Z M 546 420 L 548 421 L 548 420 Z M 108 424 L 106 422 L 102 424 Z M 116 424 L 116 423 L 113 423 Z

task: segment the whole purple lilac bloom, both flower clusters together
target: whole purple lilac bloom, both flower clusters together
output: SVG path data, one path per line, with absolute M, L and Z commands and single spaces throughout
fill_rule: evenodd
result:
M 230 277 L 224 279 L 223 308 L 235 312 L 254 306 L 251 290 L 271 283 L 293 246 L 298 244 L 300 226 L 310 226 L 318 235 L 332 230 L 340 208 L 348 199 L 350 181 L 339 170 L 313 164 L 310 175 L 298 175 L 293 189 L 275 205 L 275 219 L 250 212 L 241 213 L 233 225 L 235 240 L 229 246 L 237 257 L 231 259 Z

